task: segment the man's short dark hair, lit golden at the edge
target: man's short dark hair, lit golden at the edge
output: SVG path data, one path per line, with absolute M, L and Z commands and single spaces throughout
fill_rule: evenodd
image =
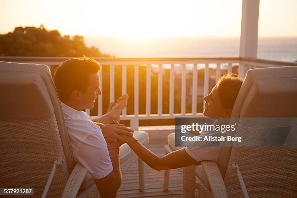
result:
M 101 66 L 94 59 L 83 57 L 64 61 L 53 77 L 61 101 L 68 101 L 74 90 L 85 93 L 90 85 L 90 76 L 100 70 Z

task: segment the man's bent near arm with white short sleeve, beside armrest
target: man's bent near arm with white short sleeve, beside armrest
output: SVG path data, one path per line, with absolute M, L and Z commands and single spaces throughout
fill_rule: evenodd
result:
M 108 143 L 107 143 L 108 144 Z M 100 133 L 91 133 L 77 151 L 77 160 L 92 174 L 100 195 L 114 198 L 120 186 L 119 147 L 111 149 Z

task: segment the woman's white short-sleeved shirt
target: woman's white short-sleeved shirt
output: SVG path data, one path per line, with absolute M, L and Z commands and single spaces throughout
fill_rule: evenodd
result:
M 217 125 L 218 121 L 215 120 L 212 125 Z M 209 131 L 209 132 L 202 132 L 200 136 L 221 136 L 221 132 L 216 131 Z M 211 146 L 210 146 L 211 145 Z M 207 142 L 207 141 L 193 141 L 189 143 L 185 147 L 185 151 L 196 161 L 201 162 L 204 160 L 212 160 L 217 161 L 221 147 L 219 146 L 220 142 L 217 143 L 217 145 L 214 146 L 213 143 Z

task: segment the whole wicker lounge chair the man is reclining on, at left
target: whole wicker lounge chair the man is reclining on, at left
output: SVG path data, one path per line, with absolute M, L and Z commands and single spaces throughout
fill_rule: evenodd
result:
M 48 66 L 0 62 L 0 96 L 0 186 L 33 187 L 33 197 L 99 197 L 93 178 L 73 159 Z M 146 132 L 134 136 L 148 143 Z M 132 155 L 128 145 L 121 146 L 122 164 L 133 163 Z

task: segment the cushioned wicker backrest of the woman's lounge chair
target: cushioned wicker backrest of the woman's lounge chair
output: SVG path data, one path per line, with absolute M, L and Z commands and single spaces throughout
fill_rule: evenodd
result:
M 245 146 L 234 142 L 226 164 L 228 195 L 243 196 L 232 168 L 237 164 L 249 196 L 296 197 L 297 67 L 249 70 L 232 112 L 236 116 L 236 136 Z

